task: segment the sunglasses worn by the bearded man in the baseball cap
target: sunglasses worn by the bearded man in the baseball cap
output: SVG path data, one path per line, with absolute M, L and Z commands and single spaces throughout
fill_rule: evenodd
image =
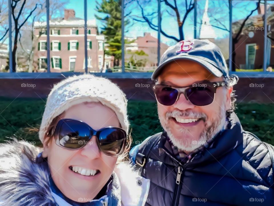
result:
M 164 84 L 153 86 L 154 94 L 162 105 L 171 106 L 179 99 L 180 94 L 196 106 L 206 106 L 213 102 L 218 87 L 227 85 L 225 82 L 196 83 L 186 87 L 173 87 Z

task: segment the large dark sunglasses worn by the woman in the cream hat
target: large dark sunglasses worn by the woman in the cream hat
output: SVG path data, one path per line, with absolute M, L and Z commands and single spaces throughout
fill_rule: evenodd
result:
M 126 145 L 126 131 L 118 127 L 92 129 L 88 124 L 75 119 L 61 119 L 56 125 L 54 139 L 58 146 L 80 149 L 96 136 L 99 150 L 108 156 L 121 155 Z

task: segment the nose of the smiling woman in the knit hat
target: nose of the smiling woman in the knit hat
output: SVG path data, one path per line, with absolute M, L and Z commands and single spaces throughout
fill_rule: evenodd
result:
M 89 159 L 96 159 L 100 157 L 100 150 L 98 148 L 96 136 L 92 136 L 87 144 L 81 149 L 81 154 Z

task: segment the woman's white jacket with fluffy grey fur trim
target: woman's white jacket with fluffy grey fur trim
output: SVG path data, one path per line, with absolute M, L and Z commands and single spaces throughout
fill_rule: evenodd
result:
M 17 139 L 0 144 L 1 204 L 71 206 L 51 190 L 50 171 L 47 162 L 39 158 L 39 152 L 41 148 Z M 108 187 L 106 195 L 101 197 L 108 201 L 107 205 L 142 206 L 146 202 L 150 181 L 140 177 L 128 163 L 119 163 Z M 101 202 L 101 198 L 98 201 Z

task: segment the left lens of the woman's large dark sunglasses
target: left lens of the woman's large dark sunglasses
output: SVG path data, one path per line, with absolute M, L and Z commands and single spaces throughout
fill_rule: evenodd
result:
M 59 143 L 70 149 L 77 149 L 84 144 L 87 144 L 89 138 L 89 128 L 78 121 L 72 120 L 63 122 L 59 131 Z

